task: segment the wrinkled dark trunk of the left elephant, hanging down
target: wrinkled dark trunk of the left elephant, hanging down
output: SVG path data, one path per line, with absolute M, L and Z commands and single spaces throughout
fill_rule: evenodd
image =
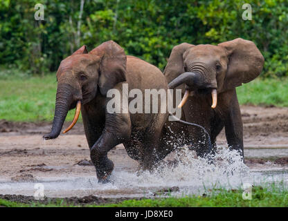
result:
M 64 124 L 64 120 L 66 115 L 71 108 L 71 104 L 75 101 L 73 96 L 73 88 L 69 84 L 58 85 L 57 87 L 57 95 L 56 95 L 56 104 L 55 104 L 55 114 L 53 119 L 53 126 L 51 129 L 51 133 L 44 135 L 45 140 L 55 139 L 60 135 L 62 126 Z M 77 110 L 80 113 L 79 102 L 78 102 Z M 76 111 L 77 113 L 77 111 Z M 79 116 L 79 114 L 78 114 Z M 78 119 L 77 116 L 77 119 Z M 75 115 L 76 117 L 76 115 Z M 75 118 L 74 117 L 74 118 Z M 76 119 L 76 121 L 77 121 Z M 75 124 L 75 119 L 73 120 L 73 124 Z M 72 128 L 72 126 L 71 126 Z M 67 129 L 71 129 L 70 127 Z M 69 131 L 69 130 L 68 130 Z M 67 132 L 67 130 L 66 130 Z

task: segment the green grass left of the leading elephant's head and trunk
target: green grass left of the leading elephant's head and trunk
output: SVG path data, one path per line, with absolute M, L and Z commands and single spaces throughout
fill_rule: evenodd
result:
M 57 81 L 55 74 L 33 77 L 0 72 L 0 119 L 17 122 L 52 121 Z M 67 120 L 73 119 L 73 111 Z

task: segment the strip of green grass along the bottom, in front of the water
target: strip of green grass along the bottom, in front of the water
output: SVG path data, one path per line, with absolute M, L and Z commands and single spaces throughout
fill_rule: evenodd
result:
M 159 199 L 144 199 L 144 200 L 125 200 L 118 204 L 104 204 L 104 205 L 84 205 L 89 207 L 105 206 L 105 207 L 285 207 L 288 206 L 288 189 L 281 187 L 262 188 L 255 186 L 252 189 L 252 200 L 243 200 L 242 189 L 224 190 L 215 189 L 208 191 L 204 196 L 187 196 L 183 198 L 159 198 Z M 9 202 L 0 199 L 0 206 L 80 206 L 73 204 L 66 204 L 63 200 L 56 203 L 39 204 L 34 202 L 32 204 L 22 204 L 17 202 Z

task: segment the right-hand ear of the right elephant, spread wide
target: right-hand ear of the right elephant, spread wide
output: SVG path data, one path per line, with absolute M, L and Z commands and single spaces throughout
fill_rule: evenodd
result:
M 223 42 L 218 46 L 226 48 L 228 55 L 224 83 L 226 90 L 248 83 L 260 75 L 264 57 L 252 41 L 238 38 Z

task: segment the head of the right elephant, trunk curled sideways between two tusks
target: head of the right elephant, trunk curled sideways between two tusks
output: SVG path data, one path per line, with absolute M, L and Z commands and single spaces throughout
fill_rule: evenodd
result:
M 213 45 L 183 43 L 172 49 L 164 75 L 169 88 L 186 84 L 186 93 L 179 104 L 185 104 L 192 93 L 212 94 L 212 108 L 217 94 L 231 90 L 258 77 L 264 58 L 252 41 L 234 39 Z

